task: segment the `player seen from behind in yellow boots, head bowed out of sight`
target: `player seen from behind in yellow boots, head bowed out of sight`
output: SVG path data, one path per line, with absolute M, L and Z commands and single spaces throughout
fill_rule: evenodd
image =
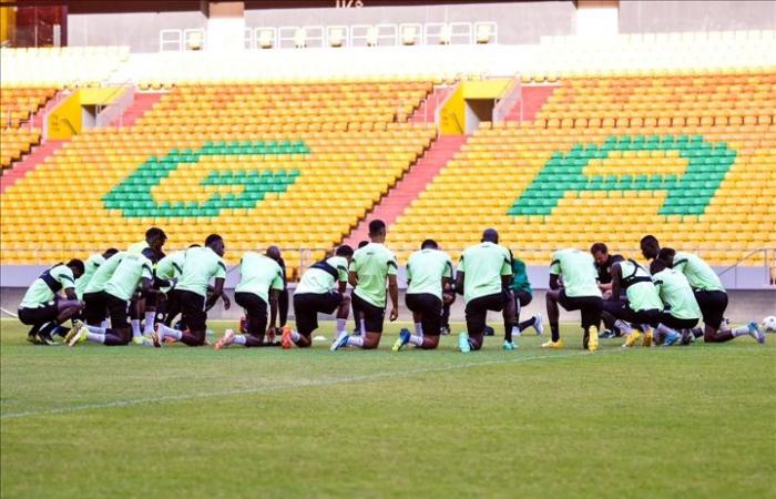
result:
M 561 287 L 561 278 L 563 287 Z M 563 348 L 558 318 L 560 304 L 566 310 L 580 310 L 583 332 L 582 348 L 599 348 L 599 325 L 603 299 L 598 284 L 593 257 L 579 249 L 560 249 L 550 264 L 550 289 L 547 292 L 547 316 L 552 339 L 542 348 Z

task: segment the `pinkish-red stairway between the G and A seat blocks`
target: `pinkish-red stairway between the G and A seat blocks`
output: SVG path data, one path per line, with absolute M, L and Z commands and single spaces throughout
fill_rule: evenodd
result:
M 467 141 L 466 135 L 441 135 L 431 143 L 426 153 L 412 165 L 409 171 L 397 182 L 396 186 L 388 191 L 388 194 L 380 200 L 371 213 L 350 232 L 350 235 L 343 243 L 353 247 L 359 241 L 367 238 L 369 234 L 369 222 L 375 218 L 382 220 L 388 226 L 401 215 L 412 200 L 426 189 L 435 176 L 445 167 L 448 161 L 456 155 Z M 388 236 L 390 238 L 390 236 Z

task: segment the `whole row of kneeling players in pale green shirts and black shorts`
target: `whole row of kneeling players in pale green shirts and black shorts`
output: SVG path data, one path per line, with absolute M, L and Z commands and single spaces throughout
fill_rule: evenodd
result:
M 309 347 L 319 313 L 336 314 L 331 350 L 377 348 L 386 312 L 391 322 L 399 316 L 398 264 L 385 238 L 385 223 L 375 220 L 369 224 L 368 242 L 355 251 L 341 245 L 303 274 L 293 298 L 296 329 L 285 324 L 286 275 L 279 249 L 270 246 L 264 254 L 245 253 L 234 293 L 245 320 L 238 334 L 226 329 L 215 348 Z M 145 241 L 126 251 L 111 248 L 85 262 L 71 259 L 45 271 L 19 307 L 19 319 L 31 326 L 28 339 L 53 344 L 52 337 L 60 335 L 70 346 L 83 342 L 205 345 L 207 310 L 218 299 L 225 308 L 231 306 L 224 292 L 224 240 L 212 234 L 203 246 L 192 245 L 169 255 L 162 251 L 165 241 L 164 231 L 152 227 Z M 698 256 L 661 248 L 651 235 L 641 240 L 641 251 L 651 261 L 649 269 L 634 259 L 610 255 L 602 243 L 594 244 L 590 253 L 572 248 L 555 252 L 547 292 L 551 339 L 542 347 L 563 347 L 559 305 L 580 310 L 583 348 L 589 350 L 598 349 L 599 338 L 613 336 L 624 336 L 624 347 L 633 347 L 640 339 L 644 346 L 686 345 L 700 337 L 713 343 L 739 336 L 765 342 L 755 322 L 734 329 L 724 326 L 727 294 Z M 503 349 L 514 349 L 514 337 L 529 327 L 538 335 L 543 332 L 541 315 L 520 322 L 520 310 L 532 296 L 525 265 L 499 245 L 492 228 L 483 232 L 480 244 L 462 253 L 455 279 L 450 256 L 435 241 L 422 242 L 407 263 L 407 282 L 406 304 L 412 312 L 415 332 L 401 329 L 394 352 L 409 344 L 436 348 L 445 329 L 442 318 L 449 316 L 457 294 L 463 295 L 466 306 L 467 332 L 458 337 L 461 352 L 482 348 L 486 332 L 492 330 L 486 324 L 489 310 L 501 312 L 503 317 Z M 348 284 L 353 286 L 349 295 Z M 354 334 L 346 328 L 351 308 Z M 600 334 L 602 319 L 606 329 Z M 704 329 L 696 327 L 701 319 Z M 69 320 L 72 327 L 64 326 Z

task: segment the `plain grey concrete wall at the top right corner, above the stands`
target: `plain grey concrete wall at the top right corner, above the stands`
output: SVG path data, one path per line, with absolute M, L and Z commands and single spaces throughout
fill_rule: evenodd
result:
M 724 31 L 776 29 L 774 1 L 620 2 L 620 32 Z

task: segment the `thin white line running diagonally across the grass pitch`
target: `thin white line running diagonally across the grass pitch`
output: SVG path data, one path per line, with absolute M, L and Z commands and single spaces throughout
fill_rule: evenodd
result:
M 123 400 L 114 400 L 114 401 L 109 401 L 109 403 L 103 403 L 103 404 L 85 404 L 81 406 L 72 406 L 72 407 L 60 407 L 60 408 L 52 408 L 52 409 L 41 409 L 41 410 L 27 410 L 22 413 L 8 413 L 3 414 L 0 416 L 0 420 L 7 420 L 7 419 L 18 419 L 18 418 L 28 418 L 28 417 L 35 417 L 35 416 L 53 416 L 53 415 L 60 415 L 60 414 L 72 414 L 72 413 L 81 413 L 84 410 L 92 410 L 92 409 L 113 409 L 113 408 L 121 408 L 121 407 L 132 407 L 132 406 L 140 406 L 144 404 L 164 404 L 164 403 L 175 403 L 175 401 L 187 401 L 187 400 L 195 400 L 195 399 L 201 399 L 201 398 L 212 398 L 212 397 L 231 397 L 235 395 L 255 395 L 255 394 L 266 394 L 266 393 L 274 393 L 274 391 L 283 391 L 287 389 L 296 389 L 296 388 L 309 388 L 309 387 L 326 387 L 326 386 L 333 386 L 333 385 L 346 385 L 350 383 L 369 383 L 369 381 L 380 381 L 385 379 L 394 379 L 394 378 L 408 378 L 412 377 L 416 375 L 423 375 L 428 373 L 443 373 L 443 371 L 450 371 L 450 370 L 458 370 L 458 369 L 468 369 L 471 367 L 482 367 L 482 366 L 498 366 L 498 365 L 510 365 L 510 364 L 522 364 L 522 363 L 528 363 L 531 360 L 544 360 L 544 359 L 561 359 L 561 358 L 570 358 L 570 357 L 580 357 L 583 355 L 593 355 L 593 356 L 600 356 L 606 353 L 612 353 L 612 352 L 621 352 L 622 348 L 612 348 L 610 350 L 604 350 L 604 352 L 599 352 L 596 354 L 590 354 L 588 352 L 575 352 L 575 353 L 570 353 L 570 354 L 559 354 L 559 355 L 552 355 L 552 354 L 547 354 L 547 355 L 537 355 L 537 356 L 531 356 L 531 357 L 518 357 L 511 360 L 487 360 L 482 363 L 467 363 L 467 364 L 456 364 L 456 365 L 450 365 L 450 366 L 442 366 L 442 367 L 430 367 L 428 369 L 415 369 L 415 370 L 404 370 L 404 371 L 397 371 L 397 373 L 376 373 L 376 374 L 368 374 L 368 375 L 360 375 L 360 376 L 343 376 L 343 377 L 336 377 L 336 378 L 329 378 L 329 379 L 310 379 L 310 380 L 303 380 L 303 381 L 292 381 L 292 383 L 285 383 L 285 384 L 279 384 L 279 385 L 272 385 L 272 386 L 259 386 L 256 388 L 241 388 L 241 389 L 231 389 L 231 390 L 221 390 L 221 391 L 203 391 L 203 393 L 195 393 L 195 394 L 181 394 L 181 395 L 165 395 L 161 397 L 144 397 L 144 398 L 127 398 Z M 400 354 L 398 354 L 400 355 Z M 469 354 L 469 355 L 477 355 L 476 353 Z

